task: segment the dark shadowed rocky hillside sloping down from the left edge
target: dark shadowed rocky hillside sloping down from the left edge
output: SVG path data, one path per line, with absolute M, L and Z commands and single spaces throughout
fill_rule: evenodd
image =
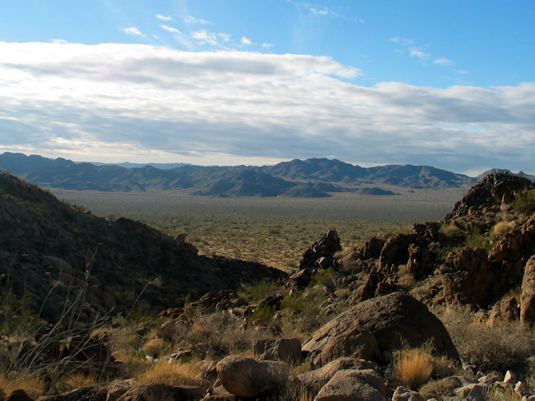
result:
M 0 285 L 29 294 L 41 316 L 54 321 L 83 290 L 81 320 L 132 307 L 147 313 L 285 273 L 258 263 L 208 258 L 184 237 L 169 238 L 126 218 L 107 220 L 15 176 L 0 173 Z

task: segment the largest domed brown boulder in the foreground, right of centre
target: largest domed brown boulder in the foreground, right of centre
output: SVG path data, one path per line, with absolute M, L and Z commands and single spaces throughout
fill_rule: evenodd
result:
M 302 350 L 320 366 L 337 357 L 380 359 L 384 351 L 429 340 L 439 354 L 458 359 L 442 322 L 412 296 L 392 293 L 352 306 L 317 330 Z

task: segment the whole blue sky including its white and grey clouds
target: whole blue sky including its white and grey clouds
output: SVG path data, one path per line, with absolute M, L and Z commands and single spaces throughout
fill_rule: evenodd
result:
M 18 0 L 0 153 L 535 173 L 535 1 Z

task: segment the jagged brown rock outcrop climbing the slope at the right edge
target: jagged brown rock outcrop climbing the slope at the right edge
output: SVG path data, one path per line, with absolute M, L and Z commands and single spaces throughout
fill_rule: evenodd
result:
M 501 210 L 496 198 L 506 205 L 517 191 L 531 185 L 531 181 L 506 173 L 487 176 L 445 220 L 414 224 L 408 234 L 368 240 L 352 255 L 357 269 L 367 274 L 365 283 L 352 295 L 354 302 L 402 290 L 397 280 L 401 269 L 427 286 L 422 299 L 434 305 L 462 303 L 491 308 L 501 295 L 524 280 L 525 295 L 517 301 L 524 304 L 522 320 L 526 320 L 532 313 L 528 312 L 532 308 L 528 306 L 529 294 L 535 291 L 530 289 L 534 285 L 530 258 L 535 253 L 535 218 L 515 220 L 490 250 L 463 245 L 467 235 L 488 232 L 496 225 L 496 213 Z M 449 232 L 444 227 L 450 228 Z

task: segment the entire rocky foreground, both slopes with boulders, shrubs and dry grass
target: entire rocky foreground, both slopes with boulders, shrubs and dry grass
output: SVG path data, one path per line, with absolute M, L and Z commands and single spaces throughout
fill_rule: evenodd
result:
M 86 318 L 120 308 L 130 289 L 160 308 L 53 340 L 58 325 L 0 335 L 12 400 L 535 399 L 535 188 L 525 178 L 493 173 L 444 220 L 357 248 L 342 250 L 329 230 L 286 277 L 199 257 L 183 238 L 0 177 L 6 288 L 86 288 Z M 247 284 L 253 275 L 272 280 Z M 172 301 L 194 284 L 214 290 Z

